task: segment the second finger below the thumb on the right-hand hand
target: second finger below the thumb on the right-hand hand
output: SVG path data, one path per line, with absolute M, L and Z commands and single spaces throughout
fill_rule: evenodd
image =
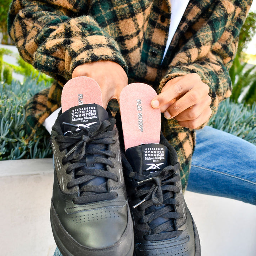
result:
M 198 118 L 207 108 L 210 107 L 210 103 L 212 102 L 212 98 L 208 95 L 206 100 L 195 104 L 194 106 L 187 108 L 180 114 L 178 114 L 175 119 L 177 121 L 188 121 L 194 120 Z

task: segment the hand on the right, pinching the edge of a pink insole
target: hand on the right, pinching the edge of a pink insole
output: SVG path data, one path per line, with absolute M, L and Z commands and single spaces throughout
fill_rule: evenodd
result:
M 212 114 L 209 87 L 198 74 L 187 74 L 171 79 L 151 105 L 160 108 L 165 118 L 174 118 L 180 126 L 196 129 Z

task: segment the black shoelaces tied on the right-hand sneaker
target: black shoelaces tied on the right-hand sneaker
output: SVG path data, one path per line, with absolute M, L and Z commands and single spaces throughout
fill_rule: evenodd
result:
M 175 193 L 180 193 L 180 189 L 174 185 L 174 182 L 180 180 L 180 176 L 175 173 L 179 167 L 179 163 L 175 166 L 167 166 L 149 176 L 137 172 L 129 173 L 129 177 L 134 181 L 135 193 L 133 196 L 141 200 L 133 207 L 145 210 L 139 223 L 148 223 L 151 229 L 151 234 L 144 235 L 146 240 L 166 240 L 182 233 L 182 231 L 174 229 L 174 220 L 183 217 L 181 213 L 175 211 L 174 206 L 179 206 L 179 202 L 173 198 Z M 164 218 L 167 221 L 164 223 L 154 221 L 157 218 Z

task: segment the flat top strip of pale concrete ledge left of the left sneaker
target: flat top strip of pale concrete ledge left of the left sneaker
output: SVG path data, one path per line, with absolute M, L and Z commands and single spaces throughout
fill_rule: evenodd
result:
M 0 177 L 53 173 L 52 158 L 0 161 Z

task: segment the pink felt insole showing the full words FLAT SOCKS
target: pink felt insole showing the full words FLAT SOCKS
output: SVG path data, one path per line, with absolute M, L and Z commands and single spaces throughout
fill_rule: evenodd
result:
M 125 149 L 144 143 L 159 143 L 160 108 L 151 107 L 155 90 L 146 84 L 129 84 L 119 98 Z

